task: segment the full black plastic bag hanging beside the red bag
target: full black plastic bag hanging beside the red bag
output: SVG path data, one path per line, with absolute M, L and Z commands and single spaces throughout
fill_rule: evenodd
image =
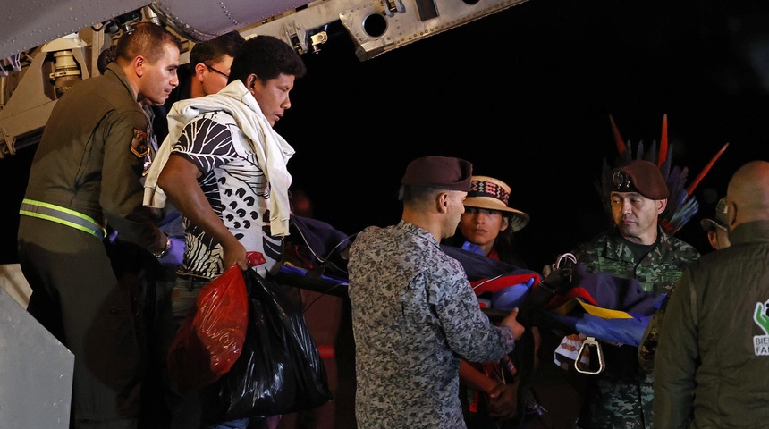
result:
M 243 276 L 249 290 L 246 340 L 230 371 L 204 388 L 204 419 L 289 414 L 332 400 L 323 360 L 300 308 L 279 284 L 251 269 Z

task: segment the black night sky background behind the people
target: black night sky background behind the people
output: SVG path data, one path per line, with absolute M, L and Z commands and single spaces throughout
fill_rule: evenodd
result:
M 539 270 L 606 226 L 594 182 L 616 156 L 609 114 L 633 147 L 659 142 L 700 210 L 676 235 L 710 250 L 699 220 L 741 164 L 769 159 L 769 2 L 529 0 L 360 62 L 342 29 L 304 55 L 276 130 L 297 150 L 294 187 L 317 219 L 355 233 L 400 219 L 417 156 L 461 156 L 511 185 L 531 215 L 517 234 Z M 15 260 L 16 212 L 33 147 L 0 160 L 0 263 Z

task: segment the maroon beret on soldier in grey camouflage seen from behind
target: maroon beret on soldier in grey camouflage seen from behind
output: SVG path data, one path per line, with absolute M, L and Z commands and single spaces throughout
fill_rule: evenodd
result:
M 472 175 L 473 164 L 464 159 L 451 156 L 422 156 L 409 163 L 401 184 L 468 191 Z

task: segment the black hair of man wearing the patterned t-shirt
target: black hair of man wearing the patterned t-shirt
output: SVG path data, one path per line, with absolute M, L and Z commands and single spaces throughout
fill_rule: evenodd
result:
M 273 36 L 257 36 L 246 40 L 230 68 L 230 81 L 241 80 L 246 84 L 250 74 L 256 74 L 262 82 L 283 74 L 301 78 L 307 67 L 292 46 Z

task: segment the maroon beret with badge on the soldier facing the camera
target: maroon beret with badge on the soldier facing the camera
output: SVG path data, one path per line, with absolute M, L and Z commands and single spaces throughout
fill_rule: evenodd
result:
M 670 190 L 657 166 L 642 159 L 634 159 L 614 168 L 612 190 L 638 192 L 649 199 L 670 198 Z

